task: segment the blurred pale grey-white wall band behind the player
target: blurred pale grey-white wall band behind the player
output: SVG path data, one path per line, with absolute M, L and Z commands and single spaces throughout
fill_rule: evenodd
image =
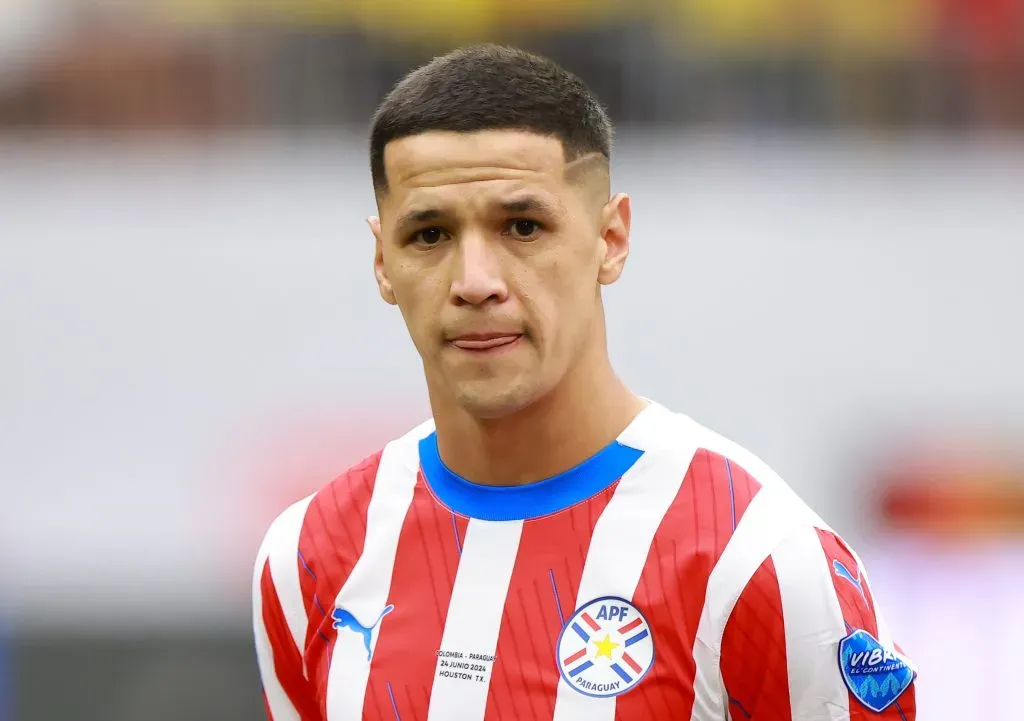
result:
M 626 135 L 614 184 L 622 373 L 855 543 L 888 443 L 1024 429 L 1024 146 Z M 18 623 L 244 623 L 273 513 L 426 414 L 372 203 L 358 137 L 0 142 Z

